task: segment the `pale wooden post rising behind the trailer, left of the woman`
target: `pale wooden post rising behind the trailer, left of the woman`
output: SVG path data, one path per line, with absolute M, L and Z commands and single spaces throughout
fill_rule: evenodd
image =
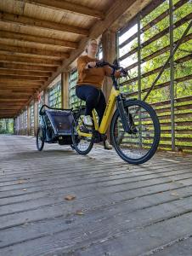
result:
M 61 74 L 61 108 L 69 108 L 69 73 Z

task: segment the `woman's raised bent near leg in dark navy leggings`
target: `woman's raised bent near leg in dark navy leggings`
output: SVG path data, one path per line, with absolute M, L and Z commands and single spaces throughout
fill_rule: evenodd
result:
M 86 102 L 85 115 L 92 115 L 93 108 L 98 105 L 100 91 L 91 85 L 77 85 L 76 96 Z

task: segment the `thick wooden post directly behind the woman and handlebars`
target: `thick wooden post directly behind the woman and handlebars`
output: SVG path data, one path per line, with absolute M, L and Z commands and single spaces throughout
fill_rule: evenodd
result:
M 105 31 L 102 35 L 101 42 L 103 48 L 104 61 L 112 63 L 116 59 L 116 32 L 113 32 L 111 30 Z M 110 77 L 105 77 L 103 84 L 103 92 L 106 102 L 108 102 L 108 99 L 110 97 L 111 88 L 112 80 L 110 79 Z M 107 137 L 110 140 L 110 127 L 107 130 Z

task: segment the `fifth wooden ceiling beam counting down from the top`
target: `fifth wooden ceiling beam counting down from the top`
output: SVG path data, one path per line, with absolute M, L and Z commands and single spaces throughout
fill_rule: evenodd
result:
M 0 55 L 0 60 L 3 62 L 27 63 L 28 65 L 35 64 L 39 66 L 60 66 L 62 63 L 62 61 L 35 59 L 30 57 L 18 57 L 18 56 L 11 56 L 11 55 Z

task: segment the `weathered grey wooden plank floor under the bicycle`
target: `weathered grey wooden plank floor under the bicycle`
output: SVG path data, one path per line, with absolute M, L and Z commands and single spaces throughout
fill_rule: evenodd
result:
M 140 166 L 0 136 L 0 255 L 191 256 L 192 157 Z M 76 198 L 66 201 L 65 196 Z

